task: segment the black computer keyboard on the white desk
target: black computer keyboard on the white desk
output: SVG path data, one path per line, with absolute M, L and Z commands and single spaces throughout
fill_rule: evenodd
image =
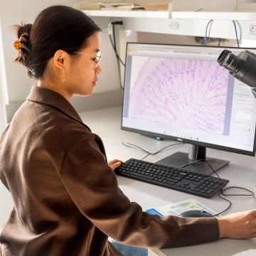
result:
M 129 159 L 114 170 L 117 175 L 146 181 L 166 188 L 210 198 L 228 184 L 224 178 L 197 174 L 184 169 Z

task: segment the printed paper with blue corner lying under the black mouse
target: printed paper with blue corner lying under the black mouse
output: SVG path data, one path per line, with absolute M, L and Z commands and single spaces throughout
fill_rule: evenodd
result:
M 202 203 L 199 203 L 195 199 L 188 199 L 178 203 L 171 203 L 166 206 L 151 208 L 149 210 L 146 210 L 146 212 L 150 213 L 151 215 L 158 214 L 160 216 L 166 216 L 166 215 L 178 216 L 187 210 L 205 210 L 206 212 L 211 213 L 212 215 L 217 214 L 215 213 L 215 211 L 211 210 L 207 206 L 204 206 Z

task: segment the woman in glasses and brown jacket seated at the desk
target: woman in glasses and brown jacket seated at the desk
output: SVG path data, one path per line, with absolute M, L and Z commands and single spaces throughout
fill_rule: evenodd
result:
M 151 248 L 255 237 L 256 210 L 161 218 L 118 188 L 114 169 L 122 161 L 107 163 L 100 137 L 70 105 L 73 95 L 90 95 L 96 85 L 99 32 L 68 6 L 50 6 L 33 25 L 17 27 L 16 61 L 37 85 L 0 139 L 0 178 L 14 201 L 0 255 L 122 255 L 109 237 Z

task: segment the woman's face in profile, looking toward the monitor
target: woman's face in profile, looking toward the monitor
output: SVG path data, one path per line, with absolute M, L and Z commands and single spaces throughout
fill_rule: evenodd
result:
M 95 58 L 99 55 L 99 35 L 92 34 L 88 44 L 82 48 L 74 58 L 70 58 L 70 65 L 64 70 L 65 90 L 72 95 L 86 96 L 92 93 L 97 82 L 97 75 L 101 72 L 100 65 L 95 65 Z

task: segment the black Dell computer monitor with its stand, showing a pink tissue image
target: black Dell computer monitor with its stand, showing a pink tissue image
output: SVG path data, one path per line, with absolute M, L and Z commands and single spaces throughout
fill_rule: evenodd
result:
M 217 63 L 223 50 L 127 43 L 121 128 L 188 144 L 158 163 L 210 174 L 229 161 L 206 157 L 206 147 L 255 156 L 256 100 Z

